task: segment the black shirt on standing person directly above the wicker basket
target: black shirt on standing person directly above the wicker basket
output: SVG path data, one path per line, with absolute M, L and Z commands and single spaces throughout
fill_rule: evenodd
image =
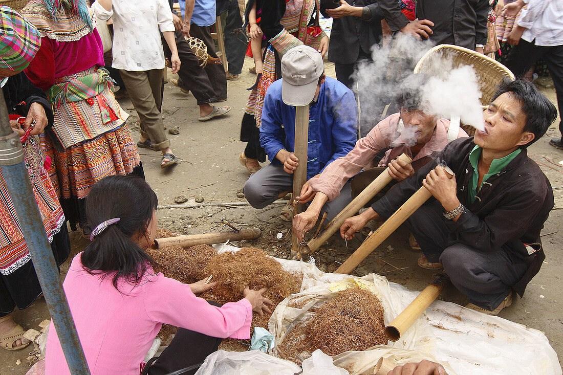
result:
M 409 20 L 401 13 L 397 0 L 378 0 L 392 31 Z M 419 20 L 434 22 L 430 39 L 436 44 L 455 44 L 475 50 L 475 44 L 487 42 L 489 0 L 418 0 L 415 14 Z

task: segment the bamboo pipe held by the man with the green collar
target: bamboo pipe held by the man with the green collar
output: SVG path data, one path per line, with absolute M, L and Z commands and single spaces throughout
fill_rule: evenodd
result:
M 444 167 L 449 178 L 454 176 L 454 172 L 449 167 Z M 361 261 L 365 259 L 374 249 L 376 249 L 385 239 L 390 236 L 395 229 L 397 229 L 414 211 L 425 203 L 428 198 L 432 197 L 430 191 L 422 186 L 416 193 L 410 197 L 403 206 L 399 207 L 397 211 L 390 218 L 388 218 L 374 234 L 366 239 L 358 249 L 334 271 L 339 274 L 349 274 L 358 266 Z

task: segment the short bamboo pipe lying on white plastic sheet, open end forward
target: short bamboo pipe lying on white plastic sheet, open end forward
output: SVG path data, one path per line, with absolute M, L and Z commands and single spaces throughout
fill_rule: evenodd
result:
M 417 298 L 414 298 L 414 301 L 410 302 L 406 309 L 385 327 L 387 339 L 390 341 L 399 340 L 422 312 L 440 295 L 448 282 L 448 275 L 444 272 L 437 274 L 434 280 L 418 294 Z

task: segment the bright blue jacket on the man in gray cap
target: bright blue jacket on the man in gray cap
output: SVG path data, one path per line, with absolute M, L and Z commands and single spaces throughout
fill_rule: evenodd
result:
M 309 109 L 307 180 L 354 148 L 357 122 L 354 94 L 341 82 L 327 77 L 320 87 L 319 100 Z M 281 164 L 276 154 L 282 149 L 294 152 L 294 141 L 295 107 L 282 101 L 282 79 L 278 79 L 264 98 L 260 145 L 272 164 Z

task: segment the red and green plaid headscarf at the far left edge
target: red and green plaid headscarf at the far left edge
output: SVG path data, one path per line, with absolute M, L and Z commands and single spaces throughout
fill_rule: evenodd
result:
M 0 6 L 0 68 L 24 70 L 39 46 L 37 29 L 12 8 Z

